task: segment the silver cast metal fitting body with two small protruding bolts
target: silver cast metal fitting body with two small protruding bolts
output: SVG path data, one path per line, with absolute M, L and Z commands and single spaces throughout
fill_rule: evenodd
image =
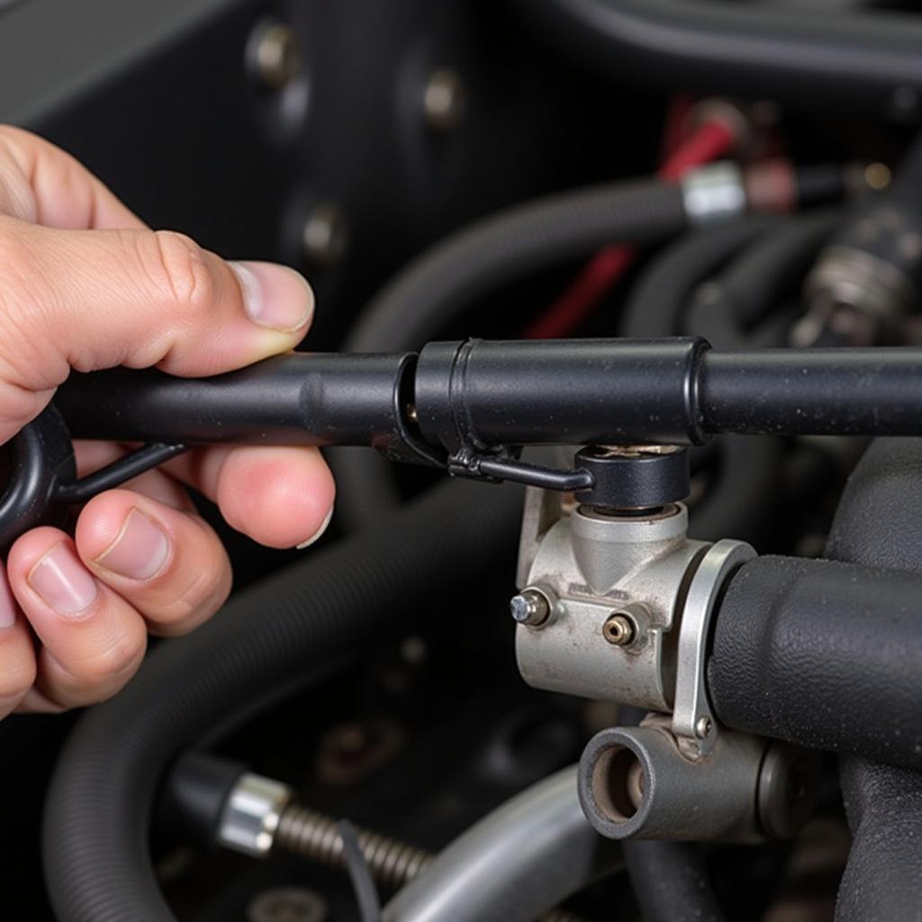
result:
M 666 636 L 676 626 L 686 573 L 707 548 L 686 537 L 685 507 L 619 516 L 581 506 L 563 515 L 558 497 L 554 521 L 542 493 L 526 493 L 519 573 L 557 604 L 540 631 L 516 631 L 523 679 L 549 691 L 671 710 L 675 659 Z

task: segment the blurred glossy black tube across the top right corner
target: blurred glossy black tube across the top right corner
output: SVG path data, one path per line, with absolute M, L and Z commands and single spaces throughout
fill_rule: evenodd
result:
M 616 77 L 877 112 L 917 105 L 922 26 L 897 13 L 823 15 L 714 0 L 520 0 L 523 16 Z M 903 112 L 905 114 L 905 112 Z

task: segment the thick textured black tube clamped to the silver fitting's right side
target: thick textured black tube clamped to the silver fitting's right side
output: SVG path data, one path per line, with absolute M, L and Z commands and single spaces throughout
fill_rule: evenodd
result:
M 922 768 L 922 575 L 760 557 L 727 588 L 708 689 L 727 727 Z

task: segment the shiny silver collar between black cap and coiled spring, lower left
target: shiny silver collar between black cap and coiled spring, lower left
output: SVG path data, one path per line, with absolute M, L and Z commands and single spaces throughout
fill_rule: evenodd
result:
M 219 844 L 250 857 L 266 857 L 290 800 L 289 786 L 259 774 L 242 774 L 221 811 Z

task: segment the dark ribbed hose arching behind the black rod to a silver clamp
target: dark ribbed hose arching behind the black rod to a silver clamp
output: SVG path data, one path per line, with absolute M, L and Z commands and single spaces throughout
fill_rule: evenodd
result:
M 685 229 L 678 186 L 611 183 L 509 208 L 437 243 L 401 271 L 361 314 L 346 340 L 355 352 L 420 349 L 480 298 L 609 243 L 654 243 Z M 329 453 L 339 521 L 363 527 L 399 502 L 380 458 Z

